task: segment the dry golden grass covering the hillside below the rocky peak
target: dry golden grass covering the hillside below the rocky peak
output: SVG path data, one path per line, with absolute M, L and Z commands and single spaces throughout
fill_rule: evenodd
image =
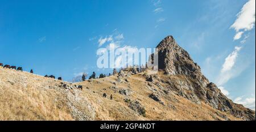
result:
M 115 79 L 117 76 L 80 82 L 76 85 L 82 85 L 82 91 L 67 90 L 59 87 L 59 80 L 0 67 L 0 120 L 225 120 L 223 116 L 240 120 L 174 93 L 161 96 L 162 105 L 148 97 L 152 91 L 141 74 L 127 78 L 129 83 L 117 83 Z M 110 88 L 115 86 L 112 82 L 116 90 Z M 118 91 L 122 88 L 131 94 L 121 95 Z M 103 93 L 108 97 L 102 97 Z M 125 98 L 139 101 L 146 116 L 130 109 Z

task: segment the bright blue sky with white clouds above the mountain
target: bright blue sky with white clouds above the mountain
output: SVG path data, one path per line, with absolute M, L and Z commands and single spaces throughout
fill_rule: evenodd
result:
M 72 80 L 111 73 L 96 66 L 110 42 L 155 48 L 172 35 L 230 99 L 255 109 L 254 25 L 255 0 L 3 0 L 0 62 Z

